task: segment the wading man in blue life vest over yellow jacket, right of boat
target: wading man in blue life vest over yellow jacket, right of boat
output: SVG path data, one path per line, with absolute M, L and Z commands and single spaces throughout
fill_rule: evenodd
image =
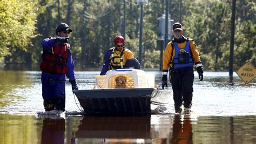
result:
M 176 113 L 181 113 L 183 102 L 184 112 L 190 112 L 193 97 L 193 66 L 197 68 L 200 81 L 203 80 L 203 65 L 201 64 L 197 45 L 193 39 L 184 37 L 182 25 L 174 23 L 172 28 L 174 39 L 167 44 L 163 57 L 162 87 L 167 87 L 167 72 L 172 84 L 173 100 Z

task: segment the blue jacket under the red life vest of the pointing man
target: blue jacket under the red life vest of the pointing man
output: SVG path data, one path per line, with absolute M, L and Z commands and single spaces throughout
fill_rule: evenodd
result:
M 52 47 L 57 44 L 57 42 L 56 42 L 55 38 L 46 38 L 43 40 L 43 42 L 41 44 L 42 44 L 44 50 L 51 50 Z M 68 66 L 68 73 L 66 74 L 66 77 L 69 78 L 69 81 L 75 80 L 76 79 L 75 73 L 74 73 L 75 65 L 74 65 L 74 62 L 72 59 L 71 52 L 70 52 L 70 57 L 68 58 L 68 61 L 67 61 L 67 66 Z M 42 72 L 42 78 L 48 77 L 48 73 L 49 72 Z M 65 80 L 65 74 L 51 73 L 50 78 Z

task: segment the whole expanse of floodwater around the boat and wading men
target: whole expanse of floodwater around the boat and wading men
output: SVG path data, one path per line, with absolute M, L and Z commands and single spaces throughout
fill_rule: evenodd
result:
M 146 72 L 161 84 L 161 72 Z M 79 89 L 96 86 L 97 74 L 76 72 Z M 191 114 L 175 115 L 170 97 L 150 115 L 118 117 L 82 115 L 68 81 L 66 114 L 45 115 L 41 72 L 0 71 L 0 143 L 256 143 L 256 80 L 234 73 L 231 87 L 228 72 L 194 74 Z

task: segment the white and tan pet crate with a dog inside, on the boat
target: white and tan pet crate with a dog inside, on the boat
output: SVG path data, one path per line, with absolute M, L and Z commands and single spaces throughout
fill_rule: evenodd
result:
M 149 88 L 154 87 L 154 74 L 143 70 L 118 69 L 96 76 L 97 88 Z

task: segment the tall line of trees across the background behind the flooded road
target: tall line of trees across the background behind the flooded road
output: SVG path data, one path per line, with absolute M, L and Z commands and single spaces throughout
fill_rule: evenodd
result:
M 234 69 L 250 60 L 256 65 L 255 1 L 237 0 L 235 12 Z M 138 58 L 139 10 L 135 0 L 125 4 L 125 46 Z M 227 71 L 230 52 L 232 0 L 169 0 L 174 22 L 193 38 L 204 69 Z M 160 44 L 158 20 L 165 0 L 144 5 L 143 65 L 158 68 Z M 0 61 L 4 64 L 39 64 L 41 42 L 55 37 L 55 28 L 67 23 L 76 66 L 101 67 L 116 35 L 123 35 L 124 1 L 121 0 L 4 0 L 0 3 Z

